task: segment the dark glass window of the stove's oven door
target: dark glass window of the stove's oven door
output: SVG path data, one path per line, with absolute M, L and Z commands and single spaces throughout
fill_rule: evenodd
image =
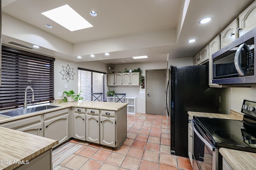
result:
M 213 151 L 194 133 L 193 170 L 212 170 Z

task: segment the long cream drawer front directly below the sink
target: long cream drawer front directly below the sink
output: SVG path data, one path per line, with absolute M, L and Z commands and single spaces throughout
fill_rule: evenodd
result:
M 25 126 L 25 125 L 32 124 L 32 123 L 39 122 L 39 121 L 41 121 L 41 115 L 28 117 L 28 118 L 25 118 L 25 119 L 12 121 L 12 122 L 9 122 L 9 123 L 4 123 L 0 126 L 7 127 L 7 128 L 10 128 L 10 129 L 15 129 L 17 127 Z

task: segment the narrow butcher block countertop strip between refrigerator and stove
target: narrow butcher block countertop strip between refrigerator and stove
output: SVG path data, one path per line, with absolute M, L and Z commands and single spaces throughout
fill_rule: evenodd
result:
M 211 117 L 211 118 L 221 118 L 221 119 L 232 119 L 232 120 L 242 120 L 244 118 L 243 113 L 239 113 L 233 110 L 230 110 L 230 115 L 227 114 L 218 114 L 218 113 L 204 113 L 196 111 L 188 111 L 190 117 L 199 116 L 199 117 Z

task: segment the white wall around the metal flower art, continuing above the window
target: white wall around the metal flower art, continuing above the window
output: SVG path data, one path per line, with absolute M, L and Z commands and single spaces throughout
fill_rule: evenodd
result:
M 60 73 L 63 70 L 63 67 L 67 65 L 70 68 L 73 68 L 73 72 L 75 75 L 73 76 L 74 80 L 67 81 L 65 78 L 62 79 L 62 74 Z M 86 68 L 89 70 L 95 70 L 100 72 L 107 72 L 106 64 L 101 63 L 99 61 L 91 61 L 91 62 L 82 62 L 82 63 L 73 63 L 66 60 L 56 59 L 54 63 L 54 98 L 61 99 L 62 97 L 58 97 L 58 92 L 63 93 L 65 90 L 74 90 L 78 93 L 78 67 Z M 65 89 L 65 84 L 67 84 L 68 88 Z

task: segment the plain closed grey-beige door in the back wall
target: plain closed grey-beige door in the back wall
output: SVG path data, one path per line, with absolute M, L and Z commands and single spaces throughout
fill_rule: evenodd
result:
M 146 113 L 166 115 L 166 70 L 146 70 Z

